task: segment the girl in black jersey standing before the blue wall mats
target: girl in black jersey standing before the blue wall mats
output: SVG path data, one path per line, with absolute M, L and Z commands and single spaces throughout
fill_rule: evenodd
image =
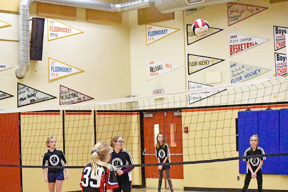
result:
M 248 149 L 245 150 L 244 156 L 249 155 L 265 155 L 264 150 L 261 147 L 258 147 L 259 138 L 258 135 L 252 135 L 250 137 L 250 145 Z M 247 161 L 247 173 L 244 181 L 244 187 L 242 188 L 242 192 L 246 191 L 249 183 L 252 178 L 257 179 L 258 184 L 258 192 L 262 191 L 262 165 L 263 160 L 266 159 L 266 157 L 253 157 L 253 158 L 247 158 L 243 159 L 243 161 Z

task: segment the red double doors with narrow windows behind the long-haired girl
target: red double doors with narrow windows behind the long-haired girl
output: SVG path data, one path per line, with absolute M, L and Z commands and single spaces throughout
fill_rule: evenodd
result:
M 145 164 L 158 163 L 155 156 L 155 141 L 158 131 L 164 133 L 164 138 L 170 146 L 171 163 L 183 162 L 181 112 L 145 113 L 143 124 Z M 165 174 L 163 176 L 165 178 Z M 183 165 L 172 165 L 170 177 L 171 179 L 183 179 Z M 158 166 L 146 166 L 146 178 L 159 178 Z

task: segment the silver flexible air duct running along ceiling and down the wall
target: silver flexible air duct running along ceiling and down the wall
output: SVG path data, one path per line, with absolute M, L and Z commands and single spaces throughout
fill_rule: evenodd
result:
M 26 75 L 30 66 L 29 6 L 33 1 L 109 12 L 130 11 L 153 6 L 162 13 L 170 13 L 239 0 L 205 0 L 190 4 L 187 0 L 131 0 L 122 3 L 94 0 L 21 0 L 19 3 L 19 65 L 16 69 L 16 77 L 19 79 Z

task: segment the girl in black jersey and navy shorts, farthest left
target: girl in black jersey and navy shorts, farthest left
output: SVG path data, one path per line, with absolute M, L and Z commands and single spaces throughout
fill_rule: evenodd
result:
M 49 192 L 62 191 L 62 184 L 64 180 L 64 173 L 66 173 L 66 179 L 69 178 L 68 169 L 59 168 L 59 166 L 67 166 L 67 162 L 65 159 L 64 153 L 60 149 L 56 149 L 56 139 L 51 136 L 48 137 L 46 141 L 47 147 L 49 147 L 48 151 L 45 152 L 43 156 L 42 166 L 55 166 L 55 168 L 48 168 L 48 174 L 45 168 L 43 168 L 44 180 L 48 182 Z

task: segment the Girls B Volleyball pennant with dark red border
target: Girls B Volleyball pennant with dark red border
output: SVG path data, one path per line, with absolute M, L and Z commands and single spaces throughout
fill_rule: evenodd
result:
M 87 95 L 74 91 L 68 87 L 60 85 L 60 105 L 68 105 L 88 101 L 91 98 Z

